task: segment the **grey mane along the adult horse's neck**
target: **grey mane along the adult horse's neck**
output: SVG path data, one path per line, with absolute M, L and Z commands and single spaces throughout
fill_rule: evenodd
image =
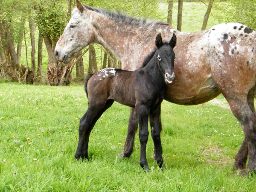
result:
M 93 12 L 97 12 L 99 14 L 105 15 L 106 17 L 119 21 L 121 23 L 126 23 L 134 26 L 152 26 L 152 25 L 167 25 L 166 23 L 163 23 L 162 21 L 152 21 L 152 20 L 147 20 L 145 18 L 135 18 L 135 17 L 130 17 L 126 15 L 124 12 L 116 12 L 116 11 L 109 11 L 107 9 L 101 9 L 101 8 L 96 8 L 96 7 L 91 7 L 91 6 L 84 6 L 86 9 L 89 9 Z

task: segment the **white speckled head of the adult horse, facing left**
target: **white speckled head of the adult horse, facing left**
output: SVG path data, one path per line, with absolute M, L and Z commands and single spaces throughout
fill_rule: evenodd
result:
M 55 47 L 58 61 L 69 62 L 74 54 L 90 44 L 95 36 L 94 29 L 90 11 L 76 0 L 72 17 Z

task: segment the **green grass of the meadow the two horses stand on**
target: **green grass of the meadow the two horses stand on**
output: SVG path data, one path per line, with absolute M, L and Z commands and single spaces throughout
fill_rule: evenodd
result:
M 241 127 L 218 106 L 163 102 L 167 169 L 161 171 L 150 158 L 149 138 L 147 173 L 139 165 L 137 134 L 132 156 L 117 157 L 127 133 L 128 107 L 114 103 L 103 114 L 90 137 L 90 161 L 80 162 L 74 154 L 79 118 L 87 109 L 82 86 L 2 83 L 0 103 L 0 191 L 255 191 L 255 175 L 240 177 L 233 171 L 244 137 Z

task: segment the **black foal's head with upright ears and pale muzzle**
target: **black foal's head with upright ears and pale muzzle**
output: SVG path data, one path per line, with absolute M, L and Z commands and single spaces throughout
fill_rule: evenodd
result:
M 162 41 L 161 34 L 159 33 L 156 37 L 157 46 L 157 64 L 163 73 L 166 83 L 172 83 L 175 73 L 173 72 L 175 53 L 173 48 L 176 45 L 176 35 L 173 34 L 171 41 L 168 44 L 164 44 Z

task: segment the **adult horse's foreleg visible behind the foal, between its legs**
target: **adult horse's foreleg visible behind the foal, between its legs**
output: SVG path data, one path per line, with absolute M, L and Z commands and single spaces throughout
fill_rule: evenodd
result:
M 134 136 L 138 128 L 138 116 L 135 108 L 130 109 L 130 118 L 128 122 L 128 133 L 125 141 L 125 146 L 120 154 L 120 157 L 130 157 L 133 151 Z

